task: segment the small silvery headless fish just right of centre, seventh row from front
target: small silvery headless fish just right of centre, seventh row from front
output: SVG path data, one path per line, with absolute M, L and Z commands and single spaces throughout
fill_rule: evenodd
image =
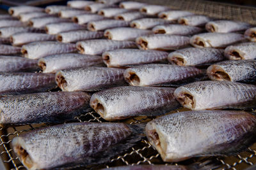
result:
M 137 29 L 151 29 L 156 25 L 172 24 L 172 21 L 163 20 L 161 18 L 141 18 L 130 22 L 130 26 Z

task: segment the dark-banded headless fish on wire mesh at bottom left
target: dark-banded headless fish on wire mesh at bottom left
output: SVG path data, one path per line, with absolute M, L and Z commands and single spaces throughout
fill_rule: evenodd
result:
M 68 123 L 20 134 L 12 146 L 29 170 L 98 164 L 131 148 L 143 137 L 142 131 L 138 125 L 122 123 Z

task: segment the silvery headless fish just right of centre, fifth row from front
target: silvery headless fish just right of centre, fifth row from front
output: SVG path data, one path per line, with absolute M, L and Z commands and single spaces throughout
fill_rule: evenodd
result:
M 136 38 L 141 50 L 177 50 L 189 45 L 189 37 L 168 34 L 153 34 Z

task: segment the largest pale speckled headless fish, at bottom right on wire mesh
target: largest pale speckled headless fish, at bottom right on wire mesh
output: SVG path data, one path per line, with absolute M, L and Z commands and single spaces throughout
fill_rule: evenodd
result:
M 179 162 L 246 150 L 255 142 L 255 124 L 244 111 L 184 111 L 148 122 L 146 134 L 164 162 Z

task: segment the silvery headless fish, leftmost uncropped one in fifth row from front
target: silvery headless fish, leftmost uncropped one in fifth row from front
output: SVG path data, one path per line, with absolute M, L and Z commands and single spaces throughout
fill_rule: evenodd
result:
M 40 41 L 23 45 L 21 52 L 29 59 L 40 59 L 47 55 L 57 53 L 75 52 L 76 45 L 71 43 L 59 43 L 55 41 Z

